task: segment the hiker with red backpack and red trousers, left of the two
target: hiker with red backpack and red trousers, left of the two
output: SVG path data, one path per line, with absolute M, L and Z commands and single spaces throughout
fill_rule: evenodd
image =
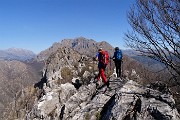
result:
M 106 75 L 105 75 L 105 69 L 109 62 L 108 52 L 100 48 L 98 50 L 98 53 L 96 54 L 96 60 L 98 61 L 98 69 L 99 69 L 97 81 L 99 81 L 101 77 L 104 84 L 107 85 L 107 87 L 109 88 L 109 81 L 107 80 Z

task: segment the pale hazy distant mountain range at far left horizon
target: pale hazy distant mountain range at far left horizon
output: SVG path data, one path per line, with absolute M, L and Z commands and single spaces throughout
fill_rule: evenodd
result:
M 30 50 L 25 50 L 20 48 L 10 48 L 7 50 L 0 50 L 0 60 L 25 61 L 35 57 L 36 54 Z

